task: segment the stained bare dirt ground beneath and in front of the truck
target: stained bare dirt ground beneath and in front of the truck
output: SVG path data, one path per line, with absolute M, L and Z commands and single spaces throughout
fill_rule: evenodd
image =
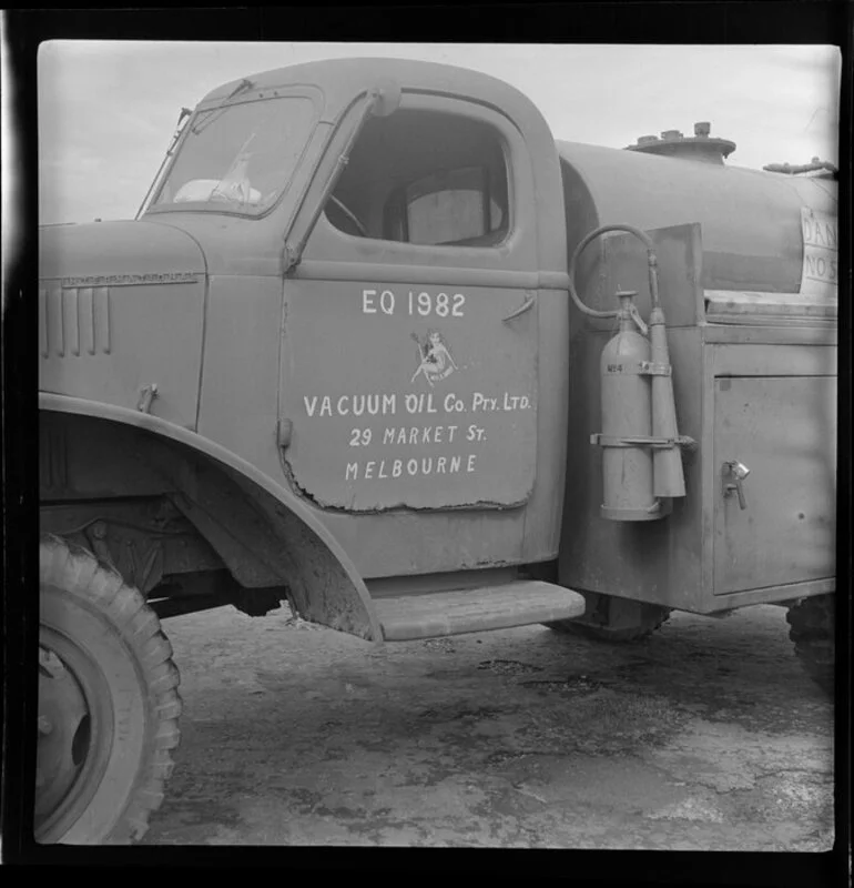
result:
M 374 646 L 166 620 L 183 739 L 143 845 L 830 849 L 833 707 L 785 610 Z

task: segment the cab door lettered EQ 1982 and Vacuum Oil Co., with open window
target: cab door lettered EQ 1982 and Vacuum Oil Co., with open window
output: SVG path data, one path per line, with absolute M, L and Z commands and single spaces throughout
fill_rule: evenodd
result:
M 365 125 L 285 281 L 293 484 L 347 512 L 527 502 L 536 238 L 530 160 L 497 111 L 405 91 Z

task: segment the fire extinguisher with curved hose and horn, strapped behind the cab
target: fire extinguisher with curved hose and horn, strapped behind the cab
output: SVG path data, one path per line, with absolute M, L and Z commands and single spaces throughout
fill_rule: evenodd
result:
M 575 287 L 581 251 L 596 238 L 623 231 L 647 248 L 652 311 L 649 326 L 634 304 L 634 291 L 619 291 L 620 306 L 598 311 L 584 305 Z M 673 382 L 664 312 L 659 303 L 658 261 L 649 235 L 631 225 L 603 225 L 578 245 L 569 266 L 569 292 L 592 317 L 616 317 L 616 335 L 602 350 L 600 383 L 602 431 L 591 443 L 602 447 L 601 515 L 611 521 L 654 521 L 670 514 L 671 500 L 685 495 L 680 447 L 694 442 L 677 430 Z

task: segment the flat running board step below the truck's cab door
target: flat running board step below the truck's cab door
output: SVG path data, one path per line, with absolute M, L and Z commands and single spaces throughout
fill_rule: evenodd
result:
M 584 598 L 563 586 L 525 581 L 375 598 L 374 606 L 387 642 L 410 642 L 579 617 L 584 613 Z

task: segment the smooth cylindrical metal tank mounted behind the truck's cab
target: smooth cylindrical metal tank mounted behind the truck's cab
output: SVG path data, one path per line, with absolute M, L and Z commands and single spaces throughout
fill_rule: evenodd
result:
M 598 225 L 702 226 L 706 290 L 797 293 L 801 211 L 836 214 L 836 185 L 642 151 L 558 142 L 568 250 Z

